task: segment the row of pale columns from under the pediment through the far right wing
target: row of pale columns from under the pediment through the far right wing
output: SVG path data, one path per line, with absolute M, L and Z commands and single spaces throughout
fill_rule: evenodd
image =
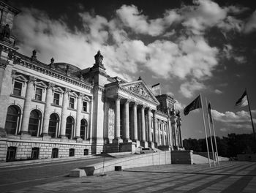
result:
M 138 141 L 138 104 L 136 102 L 133 102 L 132 105 L 132 113 L 131 118 L 129 118 L 129 99 L 127 99 L 124 102 L 124 136 L 123 139 L 121 139 L 121 125 L 120 125 L 120 108 L 121 108 L 121 98 L 116 98 L 116 107 L 115 107 L 115 138 L 113 140 L 113 143 L 122 143 L 122 142 L 130 142 L 130 129 L 129 129 L 129 120 L 131 120 L 131 126 L 132 126 L 132 140 Z M 140 107 L 140 115 L 139 118 L 140 126 L 141 126 L 141 140 L 143 143 L 146 142 L 146 123 L 145 123 L 145 106 Z M 148 142 L 149 143 L 162 143 L 162 145 L 173 145 L 173 146 L 182 146 L 182 139 L 181 139 L 181 124 L 179 121 L 176 125 L 176 121 L 167 121 L 166 124 L 166 135 L 165 132 L 162 133 L 162 139 L 160 135 L 160 126 L 157 123 L 157 117 L 156 117 L 156 111 L 153 112 L 153 135 L 154 139 L 151 135 L 151 109 L 148 108 Z M 162 128 L 164 131 L 164 128 Z M 166 136 L 166 138 L 165 138 Z

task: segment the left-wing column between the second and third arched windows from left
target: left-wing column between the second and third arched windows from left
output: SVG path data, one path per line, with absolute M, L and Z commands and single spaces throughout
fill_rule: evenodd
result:
M 53 83 L 48 83 L 45 99 L 44 121 L 42 126 L 42 135 L 48 136 L 49 121 L 50 121 L 50 103 L 53 102 Z

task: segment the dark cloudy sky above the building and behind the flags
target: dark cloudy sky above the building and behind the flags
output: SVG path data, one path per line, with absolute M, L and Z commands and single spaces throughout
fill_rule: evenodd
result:
M 13 34 L 19 52 L 81 69 L 101 50 L 109 75 L 161 84 L 181 109 L 198 94 L 211 101 L 217 135 L 251 133 L 256 123 L 256 7 L 253 1 L 10 0 L 22 12 Z M 204 137 L 199 110 L 184 116 L 183 138 Z

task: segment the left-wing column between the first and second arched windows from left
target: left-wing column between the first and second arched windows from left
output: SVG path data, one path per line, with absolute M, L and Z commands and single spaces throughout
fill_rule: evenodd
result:
M 33 98 L 34 92 L 34 81 L 35 77 L 29 76 L 29 81 L 26 88 L 26 99 L 24 102 L 23 120 L 21 124 L 21 134 L 27 134 L 29 130 L 29 116 L 31 110 L 31 99 Z

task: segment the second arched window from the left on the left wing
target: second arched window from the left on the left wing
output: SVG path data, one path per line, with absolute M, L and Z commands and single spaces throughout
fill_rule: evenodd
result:
M 31 136 L 39 135 L 39 126 L 41 122 L 41 113 L 39 110 L 32 110 L 29 117 L 29 134 Z

